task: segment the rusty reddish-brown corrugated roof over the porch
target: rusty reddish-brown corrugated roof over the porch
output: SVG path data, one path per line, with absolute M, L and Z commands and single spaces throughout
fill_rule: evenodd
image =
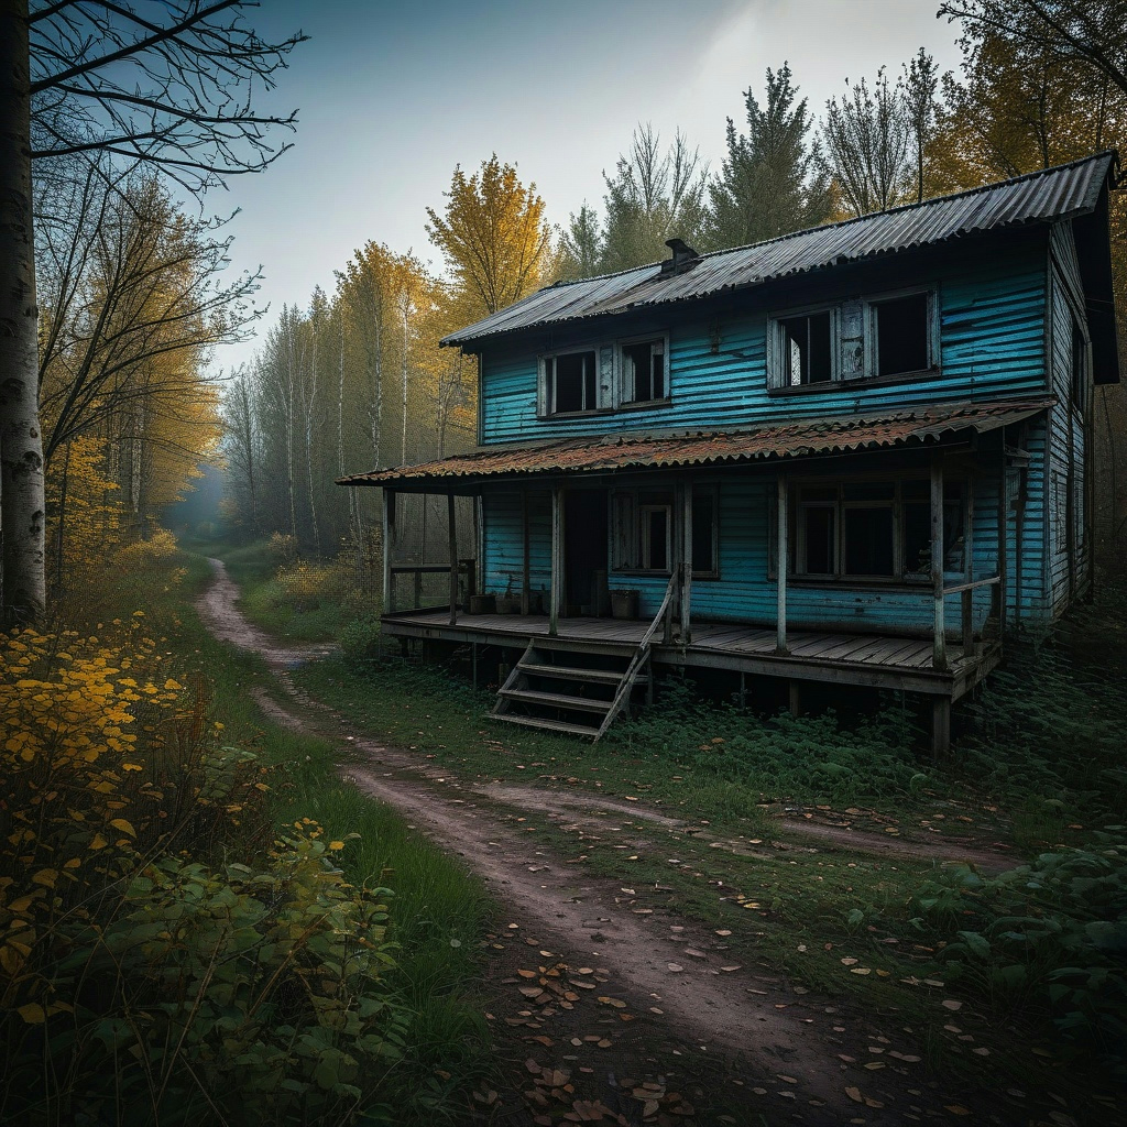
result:
M 338 478 L 341 486 L 437 486 L 532 474 L 596 473 L 801 458 L 845 451 L 938 442 L 958 431 L 993 431 L 1019 423 L 1053 402 L 1021 399 L 994 403 L 946 403 L 879 416 L 783 423 L 754 431 L 692 434 L 606 435 L 539 445 L 485 447 L 434 462 L 372 470 Z

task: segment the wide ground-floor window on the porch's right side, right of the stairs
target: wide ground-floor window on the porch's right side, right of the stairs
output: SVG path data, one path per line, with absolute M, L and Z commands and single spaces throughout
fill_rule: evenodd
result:
M 961 570 L 966 486 L 943 489 L 943 568 Z M 772 559 L 774 521 L 772 521 Z M 931 482 L 858 480 L 797 482 L 790 556 L 795 575 L 858 579 L 926 579 L 931 575 Z

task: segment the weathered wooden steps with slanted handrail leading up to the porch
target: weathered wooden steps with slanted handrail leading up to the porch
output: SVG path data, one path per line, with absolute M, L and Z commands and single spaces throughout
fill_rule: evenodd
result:
M 673 589 L 671 578 L 660 610 L 633 651 L 609 656 L 591 653 L 574 641 L 530 638 L 497 693 L 491 718 L 601 739 L 629 709 L 636 689 L 645 687 L 651 696 L 650 642 L 666 615 Z

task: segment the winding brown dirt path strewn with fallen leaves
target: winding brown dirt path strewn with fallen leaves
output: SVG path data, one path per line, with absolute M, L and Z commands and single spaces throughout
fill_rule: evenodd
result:
M 236 606 L 238 589 L 223 565 L 212 560 L 212 567 L 215 579 L 197 604 L 201 616 L 216 637 L 263 656 L 291 699 L 283 706 L 260 693 L 264 711 L 289 728 L 340 740 L 343 751 L 347 748 L 345 777 L 460 855 L 504 905 L 512 922 L 505 929 L 507 937 L 497 937 L 491 944 L 502 955 L 495 956 L 487 991 L 498 999 L 497 1012 L 516 1031 L 514 1036 L 533 1042 L 527 1063 L 532 1079 L 526 1077 L 526 1083 L 534 1079 L 539 1084 L 533 1091 L 545 1089 L 543 1076 L 559 1079 L 547 1070 L 565 1068 L 569 1074 L 577 1070 L 589 1076 L 588 1097 L 601 1100 L 598 1108 L 607 1111 L 602 1121 L 614 1122 L 611 1112 L 624 1109 L 625 1116 L 631 1108 L 637 1112 L 644 1107 L 638 1102 L 641 1097 L 631 1102 L 622 1094 L 623 1075 L 655 1076 L 651 1091 L 665 1094 L 654 1103 L 651 1117 L 704 1122 L 692 1118 L 691 1101 L 683 1093 L 676 1095 L 682 1100 L 680 1111 L 660 1102 L 668 1085 L 659 1074 L 676 1073 L 684 1077 L 682 1086 L 695 1083 L 695 1091 L 707 1095 L 702 1083 L 715 1083 L 716 1065 L 710 1062 L 719 1056 L 731 1070 L 733 1092 L 754 1109 L 754 1121 L 762 1116 L 767 1124 L 891 1125 L 937 1115 L 948 1118 L 944 1104 L 966 1102 L 926 1082 L 919 1063 L 925 1054 L 913 1053 L 911 1038 L 898 1030 L 895 1044 L 907 1050 L 908 1059 L 882 1056 L 889 1067 L 861 1071 L 866 1064 L 872 1066 L 869 1053 L 884 1053 L 879 1046 L 872 1048 L 882 1040 L 876 1015 L 850 1013 L 841 1002 L 796 988 L 782 976 L 738 966 L 726 955 L 721 937 L 677 917 L 645 888 L 622 887 L 557 855 L 522 825 L 527 811 L 536 810 L 564 827 L 623 829 L 623 841 L 641 842 L 639 823 L 657 832 L 681 825 L 678 819 L 641 804 L 586 793 L 472 787 L 409 752 L 349 731 L 339 716 L 296 690 L 287 676 L 329 647 L 278 646 L 242 618 Z M 627 820 L 630 827 L 624 826 Z M 824 827 L 801 828 L 824 833 Z M 859 836 L 846 833 L 852 848 L 858 848 Z M 940 846 L 928 844 L 937 857 L 943 855 Z M 888 852 L 905 849 L 903 842 L 879 845 Z M 508 1009 L 518 1006 L 512 1015 L 505 1013 L 506 1000 Z M 655 1044 L 672 1053 L 664 1063 L 654 1055 Z M 600 1046 L 612 1051 L 598 1057 Z M 551 1051 L 545 1054 L 545 1048 Z M 615 1065 L 610 1073 L 607 1061 Z M 538 1073 L 541 1062 L 547 1062 L 545 1071 Z M 702 1081 L 709 1075 L 712 1081 Z M 567 1094 L 566 1089 L 557 1090 Z M 530 1118 L 536 1112 L 536 1100 L 530 1097 L 526 1118 L 503 1121 L 556 1121 L 543 1115 Z M 595 1112 L 592 1116 L 591 1121 L 598 1121 Z M 990 1113 L 976 1121 L 991 1120 L 1004 1121 Z

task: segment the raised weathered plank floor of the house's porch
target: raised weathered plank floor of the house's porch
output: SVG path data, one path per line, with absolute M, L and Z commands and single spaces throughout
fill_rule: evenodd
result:
M 389 637 L 461 641 L 523 648 L 534 638 L 549 638 L 545 614 L 463 614 L 453 625 L 450 611 L 400 611 L 384 615 Z M 588 654 L 632 651 L 649 623 L 621 619 L 560 619 L 552 638 L 558 648 Z M 949 642 L 948 668 L 937 671 L 930 638 L 897 638 L 872 633 L 792 630 L 788 653 L 775 650 L 775 631 L 740 623 L 698 622 L 686 646 L 655 639 L 657 665 L 733 669 L 789 681 L 814 681 L 875 689 L 904 689 L 958 700 L 1001 659 L 997 642 L 976 642 L 971 653 Z

